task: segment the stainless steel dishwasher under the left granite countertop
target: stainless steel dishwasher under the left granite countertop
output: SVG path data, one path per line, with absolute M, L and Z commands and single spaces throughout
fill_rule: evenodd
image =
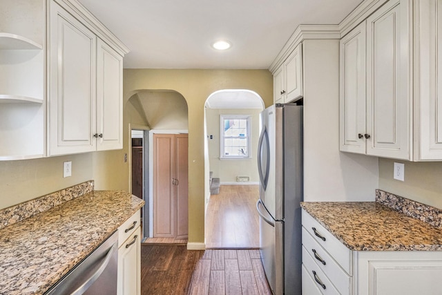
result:
M 118 231 L 45 294 L 117 294 Z

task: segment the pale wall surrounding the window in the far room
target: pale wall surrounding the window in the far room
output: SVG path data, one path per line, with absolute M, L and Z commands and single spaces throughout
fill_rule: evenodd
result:
M 210 171 L 220 182 L 236 182 L 236 176 L 249 176 L 251 182 L 258 182 L 256 151 L 259 140 L 260 108 L 206 108 Z M 247 160 L 220 160 L 220 115 L 251 115 L 251 158 Z

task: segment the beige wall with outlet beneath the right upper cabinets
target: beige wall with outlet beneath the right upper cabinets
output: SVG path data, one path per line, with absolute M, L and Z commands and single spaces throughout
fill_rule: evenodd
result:
M 393 178 L 394 162 L 405 164 L 405 181 Z M 379 189 L 442 209 L 442 162 L 379 159 Z

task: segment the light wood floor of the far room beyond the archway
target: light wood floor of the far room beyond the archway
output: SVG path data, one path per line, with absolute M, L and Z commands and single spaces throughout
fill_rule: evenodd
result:
M 206 249 L 258 249 L 258 185 L 221 185 L 206 211 Z

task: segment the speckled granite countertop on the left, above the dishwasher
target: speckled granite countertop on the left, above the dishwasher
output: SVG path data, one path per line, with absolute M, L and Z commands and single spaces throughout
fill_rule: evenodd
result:
M 0 294 L 44 294 L 143 204 L 92 191 L 0 229 Z

